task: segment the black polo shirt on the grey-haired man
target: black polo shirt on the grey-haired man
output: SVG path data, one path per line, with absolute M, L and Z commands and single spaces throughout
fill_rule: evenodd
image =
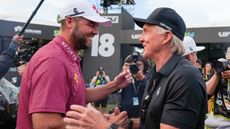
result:
M 199 70 L 176 54 L 158 72 L 153 69 L 151 78 L 155 84 L 147 83 L 143 97 L 151 95 L 146 113 L 141 116 L 141 129 L 159 129 L 160 123 L 180 129 L 203 129 L 207 95 Z

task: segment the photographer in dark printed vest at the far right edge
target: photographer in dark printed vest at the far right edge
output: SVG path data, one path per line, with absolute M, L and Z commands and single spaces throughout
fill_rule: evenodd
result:
M 230 47 L 226 52 L 226 59 L 214 62 L 215 74 L 207 82 L 207 93 L 214 95 L 211 112 L 205 121 L 207 129 L 230 128 Z

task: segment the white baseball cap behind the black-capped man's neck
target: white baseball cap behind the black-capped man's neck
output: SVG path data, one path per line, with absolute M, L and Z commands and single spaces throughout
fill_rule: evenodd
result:
M 190 53 L 202 51 L 205 49 L 204 46 L 196 46 L 196 43 L 193 40 L 193 38 L 191 38 L 189 36 L 184 37 L 183 45 L 184 45 L 184 49 L 185 49 L 184 56 L 186 56 Z

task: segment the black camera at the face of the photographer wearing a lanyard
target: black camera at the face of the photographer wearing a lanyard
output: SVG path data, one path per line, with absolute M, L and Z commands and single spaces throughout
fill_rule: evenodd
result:
M 131 63 L 130 64 L 130 67 L 129 67 L 129 70 L 130 70 L 130 72 L 132 73 L 132 74 L 136 74 L 136 73 L 138 73 L 138 71 L 140 70 L 139 68 L 138 68 L 138 66 L 137 66 L 137 60 L 138 60 L 138 56 L 139 56 L 140 54 L 138 53 L 138 52 L 134 52 L 133 54 L 132 54 L 132 62 L 133 63 Z

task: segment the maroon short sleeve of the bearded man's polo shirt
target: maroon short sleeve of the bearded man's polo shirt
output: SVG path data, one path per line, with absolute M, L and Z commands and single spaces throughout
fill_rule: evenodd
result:
M 69 99 L 68 74 L 61 59 L 50 57 L 35 65 L 29 113 L 65 113 Z

